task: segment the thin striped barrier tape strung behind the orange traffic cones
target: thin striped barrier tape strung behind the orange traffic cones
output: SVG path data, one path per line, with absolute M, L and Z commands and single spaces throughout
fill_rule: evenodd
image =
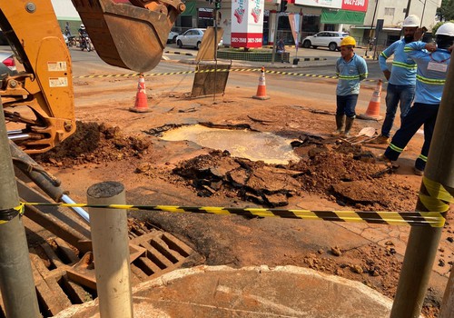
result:
M 187 75 L 187 74 L 195 74 L 195 73 L 214 73 L 216 70 L 198 70 L 198 71 L 181 71 L 181 72 L 166 72 L 166 73 L 147 73 L 143 74 L 145 77 L 154 77 L 154 76 L 164 76 L 164 75 Z M 261 72 L 262 68 L 225 68 L 225 69 L 218 69 L 217 72 Z M 268 74 L 277 74 L 277 75 L 291 75 L 291 76 L 299 76 L 299 77 L 313 77 L 313 78 L 330 78 L 330 79 L 337 79 L 338 76 L 330 76 L 330 75 L 315 75 L 315 74 L 305 74 L 305 73 L 295 73 L 295 72 L 284 72 L 284 71 L 270 71 L 265 70 L 265 73 Z M 73 78 L 108 78 L 108 77 L 135 77 L 140 75 L 139 73 L 132 73 L 132 74 L 117 74 L 117 75 L 81 75 L 81 76 L 74 76 Z M 377 82 L 374 79 L 366 79 L 366 82 Z

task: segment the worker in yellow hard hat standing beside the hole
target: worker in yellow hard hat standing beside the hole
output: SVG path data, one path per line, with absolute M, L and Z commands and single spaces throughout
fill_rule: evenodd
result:
M 355 46 L 356 41 L 351 36 L 341 40 L 341 57 L 336 62 L 336 75 L 339 81 L 336 88 L 337 109 L 334 134 L 350 134 L 356 117 L 355 107 L 360 94 L 360 81 L 368 76 L 366 61 L 354 53 Z

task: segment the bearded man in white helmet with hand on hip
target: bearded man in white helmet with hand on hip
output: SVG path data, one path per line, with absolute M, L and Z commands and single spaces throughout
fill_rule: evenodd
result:
M 390 131 L 394 123 L 394 117 L 398 104 L 400 104 L 400 123 L 403 117 L 409 112 L 411 103 L 415 96 L 416 85 L 416 63 L 404 52 L 404 46 L 415 39 L 415 32 L 420 25 L 419 17 L 409 15 L 403 21 L 404 37 L 386 48 L 379 56 L 380 68 L 388 80 L 386 90 L 386 117 L 381 125 L 381 134 L 372 144 L 389 144 Z M 386 60 L 394 55 L 391 70 L 386 65 Z

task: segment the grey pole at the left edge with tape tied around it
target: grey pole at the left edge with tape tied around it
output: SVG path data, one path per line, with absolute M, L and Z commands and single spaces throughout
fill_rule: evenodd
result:
M 8 318 L 41 317 L 0 101 L 0 291 Z

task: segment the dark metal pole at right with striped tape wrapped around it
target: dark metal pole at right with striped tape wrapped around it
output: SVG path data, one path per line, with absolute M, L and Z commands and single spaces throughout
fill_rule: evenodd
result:
M 416 210 L 447 212 L 454 194 L 454 63 L 439 105 Z M 422 201 L 421 201 L 422 200 Z M 442 228 L 413 226 L 390 318 L 419 317 Z M 452 282 L 451 282 L 452 283 Z

